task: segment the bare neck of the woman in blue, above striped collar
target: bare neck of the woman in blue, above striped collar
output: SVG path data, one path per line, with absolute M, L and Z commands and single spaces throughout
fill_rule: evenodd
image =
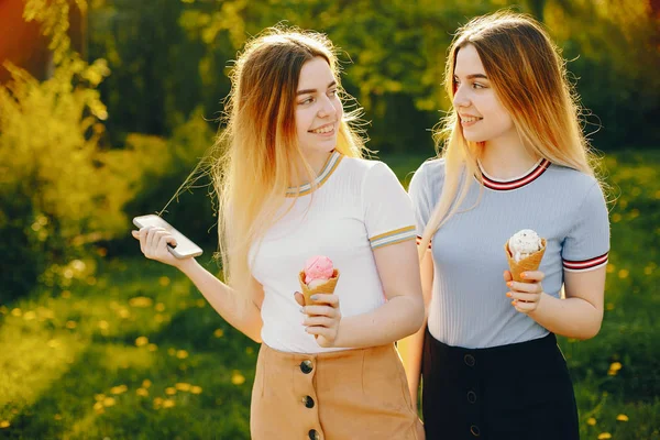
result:
M 491 177 L 506 180 L 524 174 L 539 158 L 525 147 L 518 134 L 514 132 L 508 136 L 486 141 L 480 162 Z

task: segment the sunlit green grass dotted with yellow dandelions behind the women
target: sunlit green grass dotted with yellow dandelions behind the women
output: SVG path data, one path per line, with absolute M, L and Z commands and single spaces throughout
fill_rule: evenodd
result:
M 422 158 L 384 161 L 407 183 Z M 583 439 L 658 440 L 660 151 L 606 165 L 617 200 L 603 329 L 560 343 Z M 255 343 L 170 267 L 135 256 L 81 274 L 0 305 L 0 439 L 249 438 Z

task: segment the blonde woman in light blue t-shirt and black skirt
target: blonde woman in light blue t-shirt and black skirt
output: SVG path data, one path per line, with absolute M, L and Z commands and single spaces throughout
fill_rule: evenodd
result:
M 578 439 L 554 334 L 598 332 L 609 227 L 564 61 L 534 19 L 496 13 L 459 30 L 446 84 L 444 148 L 409 188 L 428 326 L 406 362 L 427 438 Z M 547 249 L 516 283 L 504 244 L 522 229 Z

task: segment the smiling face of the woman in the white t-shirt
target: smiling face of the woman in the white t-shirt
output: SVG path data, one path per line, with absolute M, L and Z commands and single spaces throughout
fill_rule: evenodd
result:
M 296 96 L 296 130 L 305 154 L 329 153 L 337 145 L 343 108 L 337 81 L 326 59 L 302 65 Z

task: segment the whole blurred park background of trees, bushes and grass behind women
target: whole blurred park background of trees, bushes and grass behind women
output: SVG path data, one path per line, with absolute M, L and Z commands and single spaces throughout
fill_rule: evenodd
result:
M 452 32 L 507 7 L 569 59 L 608 184 L 603 328 L 560 338 L 582 437 L 660 439 L 658 0 L 0 0 L 0 439 L 248 439 L 257 344 L 143 258 L 131 218 L 193 170 L 230 61 L 280 22 L 342 48 L 367 145 L 407 186 Z M 165 218 L 220 275 L 207 184 Z

